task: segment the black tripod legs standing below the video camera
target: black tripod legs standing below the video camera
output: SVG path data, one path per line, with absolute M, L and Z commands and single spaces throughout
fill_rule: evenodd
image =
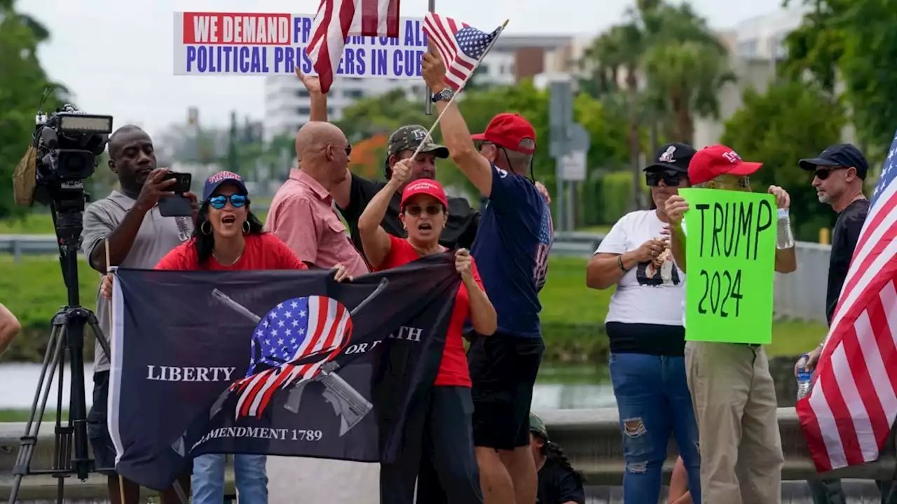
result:
M 79 184 L 80 185 L 80 184 Z M 85 195 L 81 187 L 70 187 L 60 191 L 59 196 L 50 204 L 53 223 L 59 240 L 59 263 L 62 266 L 63 279 L 68 291 L 68 304 L 53 316 L 53 327 L 44 354 L 43 367 L 40 369 L 38 387 L 31 404 L 25 434 L 21 438 L 19 454 L 13 467 L 13 491 L 9 503 L 14 504 L 19 495 L 22 477 L 30 474 L 52 474 L 58 479 L 57 502 L 64 501 L 65 478 L 76 474 L 82 481 L 96 472 L 94 461 L 88 456 L 87 438 L 87 405 L 84 399 L 84 326 L 91 326 L 93 335 L 100 342 L 106 355 L 109 343 L 100 331 L 97 317 L 91 310 L 81 307 L 78 296 L 78 249 L 81 248 L 81 231 L 83 228 L 83 212 Z M 70 404 L 68 422 L 62 423 L 62 390 L 65 385 L 65 356 L 72 369 Z M 53 466 L 50 469 L 31 470 L 31 456 L 38 442 L 40 422 L 47 406 L 47 397 L 53 384 L 53 377 L 58 369 L 56 439 Z M 32 426 L 34 429 L 32 430 Z M 74 449 L 74 457 L 72 451 Z M 101 469 L 106 469 L 101 468 Z

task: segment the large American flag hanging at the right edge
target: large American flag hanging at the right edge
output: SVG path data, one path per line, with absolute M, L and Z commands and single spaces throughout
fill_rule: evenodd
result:
M 797 402 L 818 472 L 878 458 L 897 416 L 897 135 L 860 231 L 810 395 Z

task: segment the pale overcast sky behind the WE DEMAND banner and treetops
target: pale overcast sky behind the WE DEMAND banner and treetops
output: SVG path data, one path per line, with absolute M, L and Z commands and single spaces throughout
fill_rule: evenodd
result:
M 634 0 L 437 0 L 437 12 L 485 30 L 509 18 L 515 34 L 597 34 L 619 22 Z M 484 10 L 483 5 L 490 9 Z M 779 9 L 781 0 L 694 0 L 714 28 Z M 52 79 L 74 92 L 85 112 L 111 114 L 115 126 L 140 124 L 151 135 L 187 117 L 196 106 L 206 125 L 264 114 L 263 79 L 256 76 L 172 74 L 174 12 L 309 13 L 318 0 L 19 0 L 17 8 L 44 22 L 52 34 L 40 59 Z M 403 0 L 401 13 L 422 17 L 424 0 Z M 35 97 L 35 107 L 39 97 Z

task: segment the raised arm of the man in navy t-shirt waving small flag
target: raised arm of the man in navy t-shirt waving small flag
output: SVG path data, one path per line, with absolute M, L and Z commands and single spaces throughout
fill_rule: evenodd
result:
M 446 67 L 437 51 L 431 50 L 423 54 L 422 62 L 423 80 L 436 94 L 448 86 L 445 83 Z M 440 114 L 440 128 L 442 141 L 448 147 L 451 161 L 455 161 L 467 179 L 480 194 L 486 197 L 492 195 L 492 165 L 480 152 L 476 151 L 474 140 L 470 130 L 457 109 L 457 102 L 437 101 L 436 109 Z

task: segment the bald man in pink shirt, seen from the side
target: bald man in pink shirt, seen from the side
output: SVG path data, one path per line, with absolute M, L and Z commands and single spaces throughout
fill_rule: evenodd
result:
M 369 273 L 364 257 L 345 233 L 330 191 L 346 178 L 352 145 L 330 123 L 312 121 L 296 135 L 299 168 L 274 195 L 265 227 L 309 267 L 341 264 L 350 274 Z

